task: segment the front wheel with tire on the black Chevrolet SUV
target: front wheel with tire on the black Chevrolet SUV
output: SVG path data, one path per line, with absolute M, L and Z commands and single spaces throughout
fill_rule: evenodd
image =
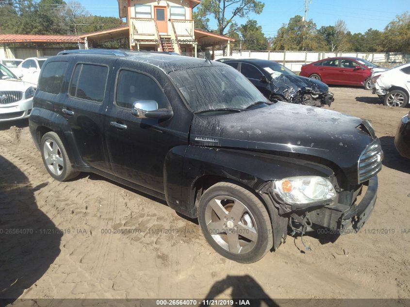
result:
M 219 182 L 201 196 L 198 221 L 205 239 L 222 256 L 252 263 L 273 246 L 269 214 L 255 194 Z

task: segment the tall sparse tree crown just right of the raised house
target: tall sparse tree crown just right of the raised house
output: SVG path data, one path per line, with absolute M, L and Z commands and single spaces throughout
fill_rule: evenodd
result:
M 263 7 L 264 4 L 257 0 L 202 0 L 194 16 L 196 21 L 202 20 L 202 24 L 201 21 L 198 22 L 199 26 L 207 26 L 208 16 L 213 16 L 217 23 L 216 32 L 224 35 L 235 17 L 245 18 L 251 13 L 261 14 Z

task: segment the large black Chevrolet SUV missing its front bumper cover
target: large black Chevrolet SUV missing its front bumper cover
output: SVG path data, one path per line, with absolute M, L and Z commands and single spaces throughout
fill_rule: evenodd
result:
M 51 177 L 93 172 L 164 199 L 238 262 L 261 259 L 288 231 L 357 232 L 376 202 L 383 153 L 369 122 L 271 102 L 222 63 L 61 52 L 33 103 Z

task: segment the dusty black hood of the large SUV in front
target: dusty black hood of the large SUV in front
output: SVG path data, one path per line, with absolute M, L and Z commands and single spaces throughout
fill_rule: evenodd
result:
M 361 153 L 374 139 L 374 130 L 360 118 L 285 102 L 242 113 L 198 115 L 190 133 L 191 145 L 320 157 L 356 181 Z

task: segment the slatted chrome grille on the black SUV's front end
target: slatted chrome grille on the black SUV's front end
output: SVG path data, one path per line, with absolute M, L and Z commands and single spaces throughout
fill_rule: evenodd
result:
M 362 152 L 359 159 L 359 183 L 369 180 L 381 170 L 383 150 L 376 139 Z

